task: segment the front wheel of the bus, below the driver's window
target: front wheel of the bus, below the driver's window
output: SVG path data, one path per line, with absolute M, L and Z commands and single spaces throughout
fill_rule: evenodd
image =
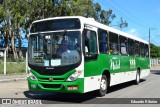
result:
M 107 88 L 108 88 L 107 86 L 108 86 L 107 77 L 105 75 L 102 75 L 102 79 L 101 79 L 101 82 L 100 82 L 100 89 L 98 90 L 98 95 L 100 97 L 106 95 Z

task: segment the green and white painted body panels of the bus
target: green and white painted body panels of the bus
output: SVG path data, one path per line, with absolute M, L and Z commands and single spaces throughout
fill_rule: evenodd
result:
M 45 20 L 54 20 L 59 19 L 58 18 L 50 18 Z M 65 18 L 79 18 L 81 22 L 81 29 L 78 29 L 79 31 L 82 31 L 85 29 L 85 24 L 89 25 L 90 30 L 93 30 L 96 32 L 97 35 L 97 47 L 98 45 L 98 34 L 97 29 L 101 28 L 106 31 L 114 32 L 118 35 L 123 35 L 127 38 L 131 38 L 137 41 L 140 41 L 142 43 L 148 44 L 148 42 L 141 40 L 137 37 L 134 37 L 132 35 L 126 34 L 122 31 L 118 31 L 114 28 L 105 26 L 103 24 L 100 24 L 96 21 L 89 20 L 84 17 L 63 17 L 61 19 Z M 40 20 L 40 21 L 45 21 Z M 36 23 L 38 21 L 35 21 Z M 91 29 L 93 27 L 93 29 Z M 81 35 L 81 39 L 83 37 L 83 34 Z M 82 39 L 83 40 L 83 39 Z M 82 42 L 83 43 L 83 42 Z M 82 48 L 81 44 L 81 48 Z M 99 48 L 98 48 L 99 50 Z M 124 83 L 127 81 L 132 81 L 136 79 L 137 75 L 137 69 L 140 69 L 140 78 L 144 78 L 150 73 L 150 60 L 148 57 L 141 57 L 141 56 L 129 56 L 127 55 L 121 55 L 121 54 L 110 54 L 105 53 L 102 54 L 98 51 L 97 59 L 85 61 L 85 56 L 82 50 L 81 55 L 81 64 L 78 69 L 80 68 L 82 70 L 82 74 L 78 77 L 75 81 L 66 81 L 67 78 L 76 72 L 78 69 L 73 69 L 70 71 L 67 71 L 63 75 L 40 75 L 36 71 L 30 70 L 36 77 L 37 80 L 32 80 L 30 77 L 27 78 L 28 80 L 28 87 L 30 90 L 44 90 L 44 91 L 51 91 L 51 92 L 60 92 L 60 93 L 86 93 L 93 90 L 100 89 L 100 82 L 101 77 L 105 71 L 107 71 L 110 75 L 110 86 Z

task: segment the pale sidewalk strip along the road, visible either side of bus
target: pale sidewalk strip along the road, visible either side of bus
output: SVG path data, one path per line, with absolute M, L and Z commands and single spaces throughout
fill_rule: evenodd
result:
M 151 70 L 160 70 L 160 65 L 152 66 Z M 8 82 L 8 81 L 18 81 L 18 80 L 25 80 L 27 79 L 27 74 L 22 75 L 3 75 L 0 74 L 0 83 L 1 82 Z

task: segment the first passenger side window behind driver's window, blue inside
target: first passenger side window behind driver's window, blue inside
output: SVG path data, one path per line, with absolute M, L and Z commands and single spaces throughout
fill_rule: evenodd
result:
M 99 52 L 108 53 L 108 33 L 105 30 L 98 29 Z

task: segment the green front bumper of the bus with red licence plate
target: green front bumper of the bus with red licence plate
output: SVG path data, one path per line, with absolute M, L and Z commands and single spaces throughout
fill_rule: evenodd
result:
M 78 78 L 76 81 L 39 81 L 27 78 L 29 90 L 50 91 L 58 93 L 84 93 L 84 79 Z M 71 88 L 76 87 L 76 88 Z

